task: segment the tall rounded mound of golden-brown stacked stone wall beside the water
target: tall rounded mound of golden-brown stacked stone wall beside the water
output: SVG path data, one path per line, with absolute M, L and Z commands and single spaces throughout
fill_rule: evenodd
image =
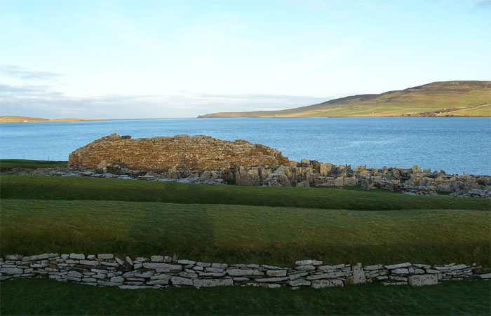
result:
M 243 167 L 288 165 L 280 151 L 244 140 L 229 142 L 209 136 L 177 135 L 131 139 L 112 134 L 70 153 L 69 167 L 98 168 L 107 172 L 121 168 L 157 172 L 204 172 L 227 174 Z

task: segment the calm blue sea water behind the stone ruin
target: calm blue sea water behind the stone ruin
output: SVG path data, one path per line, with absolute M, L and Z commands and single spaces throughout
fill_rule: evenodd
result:
M 245 139 L 283 156 L 352 167 L 412 167 L 491 174 L 491 118 L 163 118 L 0 124 L 0 158 L 68 160 L 112 133 L 133 138 Z

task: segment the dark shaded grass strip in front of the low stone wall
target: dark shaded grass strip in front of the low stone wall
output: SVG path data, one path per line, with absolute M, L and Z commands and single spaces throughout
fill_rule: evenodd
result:
M 329 289 L 139 289 L 52 280 L 0 285 L 1 315 L 490 315 L 490 283 Z M 28 298 L 28 299 L 27 299 Z

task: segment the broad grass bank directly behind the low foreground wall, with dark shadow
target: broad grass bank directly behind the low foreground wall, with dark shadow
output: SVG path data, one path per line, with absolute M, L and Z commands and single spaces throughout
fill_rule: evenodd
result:
M 488 211 L 2 200 L 0 220 L 1 254 L 179 254 L 282 266 L 298 259 L 490 266 L 491 254 Z

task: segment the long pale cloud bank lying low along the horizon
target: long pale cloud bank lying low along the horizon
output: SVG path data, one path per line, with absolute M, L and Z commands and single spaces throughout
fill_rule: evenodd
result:
M 175 92 L 168 95 L 102 95 L 69 97 L 48 85 L 0 84 L 2 116 L 44 118 L 172 118 L 219 111 L 290 109 L 326 98 L 291 95 L 219 95 Z

